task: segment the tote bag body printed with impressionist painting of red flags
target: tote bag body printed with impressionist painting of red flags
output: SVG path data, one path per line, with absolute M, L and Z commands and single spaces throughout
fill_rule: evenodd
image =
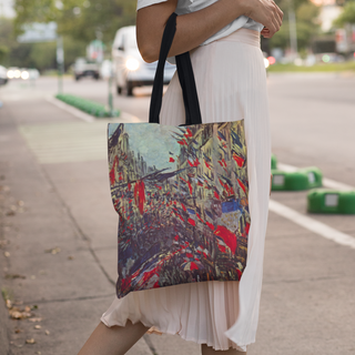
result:
M 116 293 L 239 281 L 246 265 L 244 121 L 109 124 L 119 222 Z

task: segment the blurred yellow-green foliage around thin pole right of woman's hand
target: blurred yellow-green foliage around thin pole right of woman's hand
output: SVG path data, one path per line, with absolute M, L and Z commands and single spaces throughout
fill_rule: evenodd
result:
M 284 12 L 284 18 L 280 31 L 270 40 L 270 47 L 285 49 L 290 47 L 288 1 L 278 0 L 276 3 Z M 321 9 L 310 0 L 295 0 L 293 4 L 296 16 L 297 47 L 302 51 L 311 44 L 313 36 L 321 31 L 317 21 Z

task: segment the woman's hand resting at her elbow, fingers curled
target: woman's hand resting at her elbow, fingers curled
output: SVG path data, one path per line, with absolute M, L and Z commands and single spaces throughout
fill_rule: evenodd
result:
M 261 34 L 272 38 L 282 24 L 284 13 L 273 0 L 243 0 L 244 14 L 264 24 Z

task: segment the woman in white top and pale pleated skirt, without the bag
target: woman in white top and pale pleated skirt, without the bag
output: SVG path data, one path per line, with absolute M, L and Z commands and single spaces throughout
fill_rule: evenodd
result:
M 125 354 L 150 327 L 201 344 L 203 355 L 240 354 L 255 342 L 271 161 L 260 33 L 272 38 L 283 12 L 273 0 L 138 0 L 138 44 L 145 61 L 158 60 L 172 12 L 180 16 L 169 55 L 191 51 L 203 123 L 244 119 L 252 219 L 247 265 L 241 282 L 183 284 L 115 298 L 79 355 Z M 184 115 L 175 75 L 161 122 L 179 125 Z

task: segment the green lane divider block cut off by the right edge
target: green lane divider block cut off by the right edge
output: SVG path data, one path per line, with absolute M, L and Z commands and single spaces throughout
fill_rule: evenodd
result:
M 355 214 L 355 190 L 313 190 L 307 195 L 307 211 L 311 213 Z

